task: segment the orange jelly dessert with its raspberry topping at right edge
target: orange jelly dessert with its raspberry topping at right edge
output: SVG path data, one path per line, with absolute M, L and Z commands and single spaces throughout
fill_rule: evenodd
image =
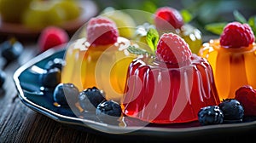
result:
M 212 66 L 220 100 L 235 98 L 243 85 L 256 88 L 256 45 L 247 24 L 231 22 L 219 39 L 204 43 L 199 55 Z

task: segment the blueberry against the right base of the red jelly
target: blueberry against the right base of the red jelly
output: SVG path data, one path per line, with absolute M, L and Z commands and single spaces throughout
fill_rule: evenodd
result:
M 198 112 L 201 125 L 219 124 L 224 121 L 224 114 L 218 106 L 206 106 Z

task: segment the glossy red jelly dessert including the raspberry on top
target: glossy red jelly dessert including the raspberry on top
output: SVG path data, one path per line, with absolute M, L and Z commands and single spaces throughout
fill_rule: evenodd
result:
M 142 55 L 128 69 L 122 111 L 149 123 L 197 120 L 201 107 L 220 103 L 207 60 L 191 54 L 176 34 L 160 37 L 155 58 Z

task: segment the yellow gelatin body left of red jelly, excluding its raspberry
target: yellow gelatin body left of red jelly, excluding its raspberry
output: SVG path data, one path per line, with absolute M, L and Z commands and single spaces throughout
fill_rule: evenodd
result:
M 61 83 L 73 83 L 79 90 L 96 86 L 107 100 L 119 101 L 125 90 L 127 69 L 135 54 L 127 51 L 131 42 L 119 37 L 109 45 L 91 46 L 85 38 L 72 43 L 66 52 Z

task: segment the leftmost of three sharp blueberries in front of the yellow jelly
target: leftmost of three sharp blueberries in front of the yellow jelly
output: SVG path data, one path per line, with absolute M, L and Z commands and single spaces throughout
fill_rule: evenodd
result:
M 73 106 L 79 100 L 79 89 L 73 83 L 59 83 L 54 90 L 53 99 L 61 106 Z

